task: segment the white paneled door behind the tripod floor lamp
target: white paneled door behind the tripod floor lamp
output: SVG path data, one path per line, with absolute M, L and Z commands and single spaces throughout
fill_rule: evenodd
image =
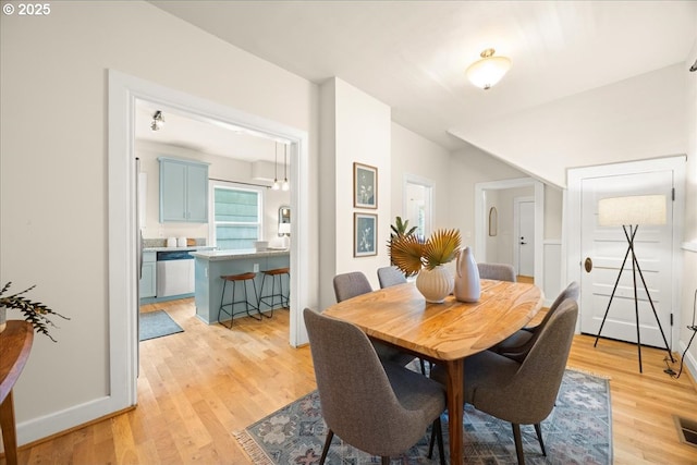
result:
M 598 225 L 598 200 L 625 195 L 663 194 L 668 201 L 665 225 L 639 225 L 634 249 L 648 292 L 665 338 L 670 336 L 672 308 L 673 171 L 662 170 L 582 180 L 582 298 L 580 331 L 596 335 L 607 311 L 601 335 L 637 342 L 634 305 L 634 276 L 629 254 L 610 307 L 610 295 L 627 252 L 628 242 L 621 227 Z M 665 347 L 657 316 L 636 274 L 641 344 Z

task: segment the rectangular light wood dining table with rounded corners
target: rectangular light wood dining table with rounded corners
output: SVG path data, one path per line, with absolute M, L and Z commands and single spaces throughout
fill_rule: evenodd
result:
M 352 322 L 369 338 L 391 344 L 447 372 L 450 463 L 463 463 L 465 358 L 486 351 L 526 326 L 542 308 L 531 283 L 480 280 L 477 302 L 428 303 L 414 282 L 334 304 L 325 315 Z M 463 381 L 464 380 L 464 381 Z

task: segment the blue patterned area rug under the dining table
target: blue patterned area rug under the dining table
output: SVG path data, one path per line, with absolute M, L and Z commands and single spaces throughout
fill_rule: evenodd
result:
M 445 454 L 448 416 L 443 414 Z M 567 369 L 557 405 L 542 421 L 547 457 L 542 455 L 533 426 L 522 426 L 526 464 L 610 464 L 612 429 L 610 389 L 607 379 Z M 464 462 L 466 464 L 517 464 L 511 424 L 465 406 Z M 242 448 L 256 465 L 311 465 L 319 463 L 327 426 L 321 416 L 317 391 L 235 432 Z M 392 464 L 437 464 L 426 457 L 429 433 Z M 370 456 L 334 436 L 327 464 L 379 464 Z M 449 461 L 450 463 L 450 461 Z

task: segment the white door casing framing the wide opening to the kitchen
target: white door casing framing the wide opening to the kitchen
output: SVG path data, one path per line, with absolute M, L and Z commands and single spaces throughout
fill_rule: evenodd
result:
M 305 131 L 200 99 L 113 70 L 109 71 L 109 380 L 111 409 L 136 403 L 138 350 L 138 244 L 136 216 L 136 160 L 134 114 L 136 100 L 168 106 L 182 112 L 258 131 L 290 140 L 289 157 L 296 167 L 291 182 L 291 209 L 295 220 L 291 234 L 291 315 L 289 342 L 306 342 L 302 314 L 308 305 L 308 291 L 301 286 L 308 272 L 308 135 Z

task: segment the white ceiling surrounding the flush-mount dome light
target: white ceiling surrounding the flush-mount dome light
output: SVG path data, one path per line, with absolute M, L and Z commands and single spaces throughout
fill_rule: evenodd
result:
M 320 84 L 338 76 L 447 148 L 449 134 L 687 59 L 695 1 L 151 1 Z M 489 47 L 493 88 L 465 69 Z M 210 140 L 210 139 L 208 139 Z

